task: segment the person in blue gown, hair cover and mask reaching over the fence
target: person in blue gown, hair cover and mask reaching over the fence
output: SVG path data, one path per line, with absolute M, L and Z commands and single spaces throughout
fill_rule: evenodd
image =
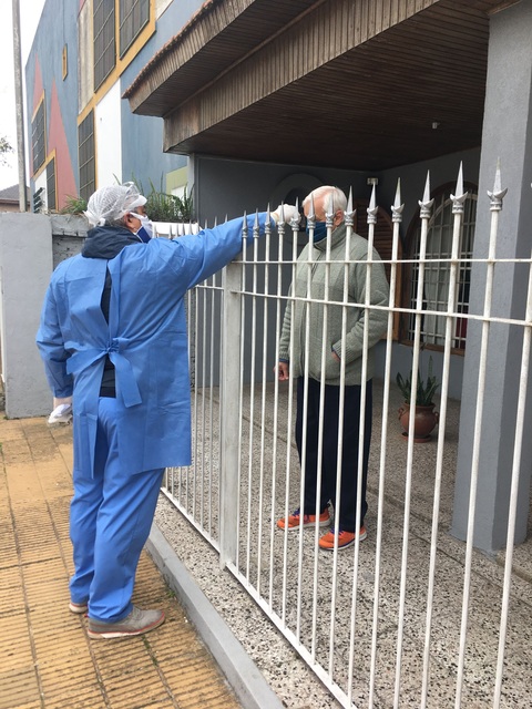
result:
M 131 598 L 163 471 L 191 464 L 184 296 L 242 248 L 242 218 L 176 240 L 146 238 L 145 202 L 132 183 L 92 195 L 93 228 L 53 273 L 37 337 L 54 404 L 73 395 L 70 609 L 89 612 L 91 638 L 164 621 Z M 294 213 L 285 207 L 285 218 Z M 258 219 L 264 233 L 267 214 Z

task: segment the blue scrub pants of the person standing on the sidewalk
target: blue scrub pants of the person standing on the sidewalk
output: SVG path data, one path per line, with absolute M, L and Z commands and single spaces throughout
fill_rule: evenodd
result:
M 116 400 L 100 398 L 94 476 L 75 471 L 70 507 L 74 575 L 70 595 L 89 617 L 116 623 L 132 610 L 136 566 L 164 469 L 131 474 L 119 459 Z

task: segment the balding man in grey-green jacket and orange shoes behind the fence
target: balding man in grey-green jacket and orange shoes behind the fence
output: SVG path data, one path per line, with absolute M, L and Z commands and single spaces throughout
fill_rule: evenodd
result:
M 347 207 L 346 195 L 337 187 L 324 186 L 311 192 L 304 201 L 305 216 L 314 213 L 316 224 L 313 245 L 300 254 L 295 280 L 290 288 L 290 298 L 285 312 L 279 346 L 278 378 L 284 381 L 291 376 L 297 379 L 296 443 L 301 466 L 304 465 L 304 510 L 278 520 L 280 528 L 298 530 L 301 525 L 328 526 L 330 524 L 328 503 L 335 507 L 339 517 L 338 535 L 328 532 L 319 540 L 319 547 L 332 551 L 349 547 L 355 542 L 357 504 L 360 505 L 360 541 L 366 538 L 364 517 L 366 502 L 366 481 L 368 475 L 369 443 L 371 438 L 371 377 L 374 372 L 374 348 L 386 330 L 387 314 L 374 306 L 387 306 L 389 289 L 385 269 L 379 255 L 374 249 L 371 259 L 371 280 L 369 308 L 366 309 L 366 281 L 368 276 L 368 243 L 358 234 L 351 234 L 349 240 L 347 267 L 346 308 L 330 305 L 341 304 L 346 288 L 346 225 L 344 215 Z M 332 213 L 332 227 L 328 234 L 326 212 Z M 309 228 L 307 227 L 307 232 Z M 327 242 L 330 242 L 330 260 L 327 260 Z M 308 249 L 313 249 L 309 259 Z M 308 300 L 309 299 L 309 300 Z M 325 306 L 324 301 L 329 301 Z M 345 311 L 345 312 L 344 312 Z M 324 340 L 324 317 L 327 312 L 327 330 Z M 344 325 L 346 315 L 346 325 Z M 364 329 L 368 319 L 367 374 L 362 381 Z M 309 328 L 308 348 L 306 343 L 306 323 Z M 290 329 L 293 337 L 290 338 Z M 290 357 L 291 341 L 291 357 Z M 325 350 L 325 369 L 323 352 Z M 345 359 L 345 362 L 341 361 Z M 345 369 L 344 391 L 340 389 L 342 367 Z M 308 378 L 308 391 L 305 394 L 305 379 Z M 323 402 L 321 455 L 319 456 L 319 417 L 321 379 L 325 381 Z M 366 389 L 364 410 L 362 464 L 359 470 L 359 423 L 362 387 Z M 344 407 L 340 399 L 344 394 Z M 305 400 L 306 399 L 306 400 Z M 306 403 L 306 418 L 304 419 Z M 341 419 L 340 419 L 341 417 Z M 336 504 L 339 430 L 341 423 L 340 500 Z M 305 442 L 305 448 L 304 448 Z M 318 470 L 321 472 L 318 485 Z M 361 496 L 357 500 L 357 479 L 361 475 Z M 318 503 L 318 507 L 317 507 Z M 319 515 L 316 520 L 316 510 Z

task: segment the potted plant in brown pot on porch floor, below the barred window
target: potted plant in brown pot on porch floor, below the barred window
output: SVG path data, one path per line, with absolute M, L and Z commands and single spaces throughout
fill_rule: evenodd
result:
M 410 400 L 412 393 L 412 370 L 407 378 L 400 372 L 396 377 L 397 386 L 405 400 L 403 405 L 399 409 L 399 421 L 403 428 L 402 435 L 408 438 L 408 429 L 410 422 Z M 418 370 L 416 382 L 416 411 L 413 418 L 413 440 L 417 443 L 424 443 L 430 440 L 430 434 L 438 423 L 438 412 L 434 411 L 434 402 L 432 401 L 440 384 L 438 379 L 432 374 L 432 357 L 429 358 L 427 378 L 421 377 Z

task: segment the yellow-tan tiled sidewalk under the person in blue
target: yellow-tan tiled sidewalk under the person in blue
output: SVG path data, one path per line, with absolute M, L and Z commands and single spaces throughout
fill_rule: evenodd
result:
M 69 612 L 71 441 L 43 418 L 0 419 L 0 709 L 239 707 L 145 553 L 134 602 L 164 608 L 161 628 L 94 641 Z

